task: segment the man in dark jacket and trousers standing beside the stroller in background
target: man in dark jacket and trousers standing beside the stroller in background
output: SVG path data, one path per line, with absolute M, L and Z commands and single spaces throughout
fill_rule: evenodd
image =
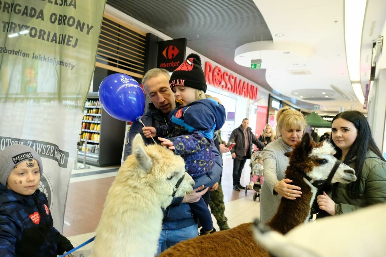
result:
M 230 150 L 233 159 L 233 189 L 236 191 L 240 191 L 240 188 L 245 189 L 244 186 L 240 185 L 240 177 L 245 161 L 251 159 L 252 143 L 260 149 L 265 146 L 252 134 L 252 129 L 248 125 L 249 119 L 243 119 L 240 127 L 234 129 L 229 137 L 229 142 L 234 141 L 236 143 Z

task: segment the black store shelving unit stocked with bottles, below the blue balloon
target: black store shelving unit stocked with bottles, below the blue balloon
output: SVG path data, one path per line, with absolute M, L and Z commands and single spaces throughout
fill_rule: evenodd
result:
M 109 166 L 120 163 L 125 122 L 110 116 L 101 106 L 98 92 L 87 96 L 78 140 L 79 162 L 83 162 L 87 136 L 86 163 Z

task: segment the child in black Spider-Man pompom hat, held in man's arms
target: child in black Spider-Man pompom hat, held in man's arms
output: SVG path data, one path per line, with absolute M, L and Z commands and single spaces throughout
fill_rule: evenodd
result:
M 185 169 L 193 177 L 210 174 L 215 164 L 213 133 L 225 123 L 225 108 L 205 97 L 207 84 L 201 58 L 190 54 L 169 80 L 179 106 L 170 112 L 168 125 L 142 128 L 144 135 L 158 136 L 162 145 L 174 150 L 185 160 Z M 215 232 L 212 216 L 203 198 L 190 203 L 192 213 L 200 221 L 200 235 Z

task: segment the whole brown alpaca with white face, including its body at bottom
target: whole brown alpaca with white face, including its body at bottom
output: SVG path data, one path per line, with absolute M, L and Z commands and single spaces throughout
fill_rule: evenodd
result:
M 280 233 L 286 233 L 291 228 L 304 223 L 310 215 L 311 205 L 315 198 L 316 188 L 311 184 L 315 180 L 325 180 L 337 159 L 333 156 L 335 149 L 328 142 L 315 144 L 310 136 L 305 134 L 301 142 L 293 147 L 286 178 L 300 186 L 302 195 L 296 200 L 281 198 L 276 215 L 269 227 Z M 302 174 L 303 172 L 303 174 Z M 307 175 L 310 181 L 305 179 Z M 355 181 L 354 170 L 341 163 L 332 178 L 332 183 L 349 183 Z M 237 247 L 237 250 L 233 250 Z M 267 251 L 256 244 L 252 236 L 251 223 L 215 232 L 210 235 L 195 237 L 180 242 L 159 255 L 160 257 L 196 257 L 196 256 L 269 256 Z

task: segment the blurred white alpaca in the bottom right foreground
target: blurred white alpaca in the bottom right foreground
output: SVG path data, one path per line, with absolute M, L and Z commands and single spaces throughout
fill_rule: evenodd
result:
M 254 227 L 259 245 L 275 257 L 385 256 L 386 203 L 300 225 L 282 235 Z

